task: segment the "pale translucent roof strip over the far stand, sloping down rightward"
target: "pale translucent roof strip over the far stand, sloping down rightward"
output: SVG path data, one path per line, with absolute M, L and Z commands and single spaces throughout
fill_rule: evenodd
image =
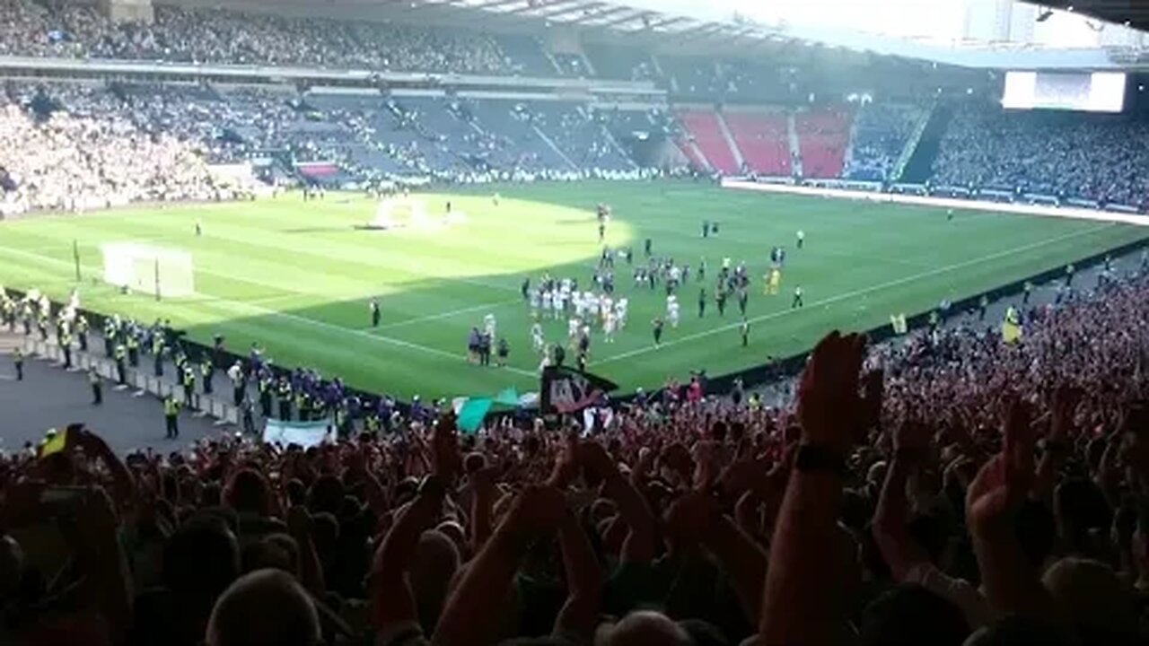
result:
M 1149 3 L 1149 0 L 1055 1 L 1066 6 L 1080 1 L 1090 7 L 1110 8 L 1121 3 Z M 363 0 L 329 0 L 327 7 L 340 2 L 360 8 L 370 6 L 370 1 L 364 3 Z M 871 62 L 871 56 L 878 55 L 984 69 L 1100 69 L 1113 64 L 1100 47 L 1058 51 L 1062 48 L 1034 43 L 969 39 L 935 43 L 785 21 L 766 24 L 727 11 L 730 5 L 722 2 L 700 3 L 689 11 L 662 10 L 660 5 L 639 0 L 390 0 L 383 6 L 398 20 L 503 32 L 527 32 L 539 25 L 565 26 L 603 40 L 620 40 L 666 54 L 738 57 L 769 54 L 782 63 L 815 57 L 846 64 Z M 1142 10 L 1141 17 L 1149 20 L 1149 10 Z

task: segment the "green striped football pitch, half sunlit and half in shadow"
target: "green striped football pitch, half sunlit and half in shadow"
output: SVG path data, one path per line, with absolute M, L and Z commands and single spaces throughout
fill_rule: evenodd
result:
M 625 331 L 612 344 L 595 330 L 591 370 L 630 391 L 658 386 L 670 375 L 704 368 L 710 375 L 746 369 L 766 356 L 809 348 L 833 328 L 870 329 L 893 313 L 915 314 L 943 298 L 958 300 L 1141 239 L 1136 226 L 959 213 L 822 198 L 765 195 L 708 184 L 599 183 L 485 187 L 416 195 L 432 215 L 452 201 L 465 221 L 438 231 L 356 229 L 375 216 L 376 200 L 298 194 L 255 202 L 137 207 L 83 216 L 0 223 L 0 284 L 38 287 L 63 299 L 75 286 L 78 245 L 84 307 L 142 322 L 170 318 L 193 339 L 224 334 L 245 352 L 259 341 L 280 366 L 308 366 L 349 384 L 400 397 L 535 390 L 529 307 L 519 285 L 543 271 L 588 285 L 602 246 L 594 208 L 612 207 L 607 243 L 632 245 L 699 266 L 705 286 L 723 257 L 745 261 L 753 277 L 747 316 L 750 345 L 741 347 L 738 309 L 719 317 L 710 302 L 697 317 L 700 284 L 680 291 L 683 321 L 655 348 L 650 322 L 664 315 L 665 294 L 635 287 L 625 263 L 617 295 L 630 299 Z M 720 223 L 702 239 L 703 220 Z M 201 221 L 203 236 L 195 237 Z M 794 248 L 805 232 L 805 248 Z M 122 295 L 100 282 L 100 246 L 140 243 L 192 254 L 195 294 L 156 302 Z M 787 247 L 781 291 L 763 293 L 771 246 Z M 791 309 L 801 285 L 805 307 Z M 383 323 L 372 329 L 368 301 L 378 297 Z M 506 368 L 465 359 L 466 334 L 486 314 L 510 343 Z M 546 321 L 548 341 L 565 339 L 565 321 Z

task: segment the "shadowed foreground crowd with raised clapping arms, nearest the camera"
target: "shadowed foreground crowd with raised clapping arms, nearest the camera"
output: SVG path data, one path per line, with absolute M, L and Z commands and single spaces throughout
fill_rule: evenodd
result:
M 319 447 L 126 456 L 74 425 L 0 459 L 0 636 L 1141 644 L 1147 269 L 1062 287 L 1016 344 L 834 332 L 780 407 L 695 377 L 589 431 L 524 412 L 461 434 L 380 400 Z

